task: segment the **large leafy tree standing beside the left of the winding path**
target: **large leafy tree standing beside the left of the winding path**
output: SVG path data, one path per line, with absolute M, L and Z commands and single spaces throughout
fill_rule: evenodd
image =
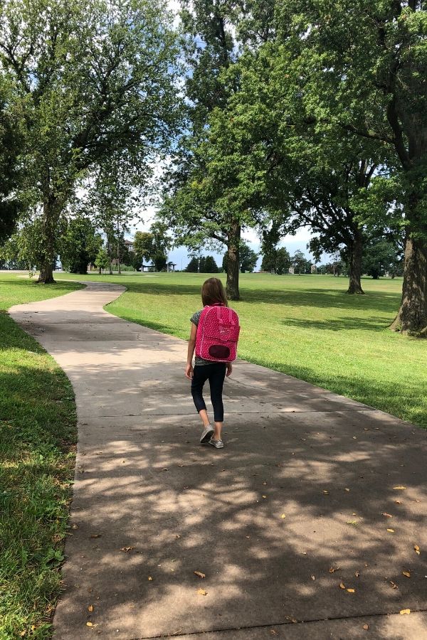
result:
M 144 176 L 176 111 L 176 38 L 154 0 L 5 0 L 0 65 L 26 134 L 27 192 L 42 203 L 41 282 L 58 221 L 89 169 L 123 150 Z

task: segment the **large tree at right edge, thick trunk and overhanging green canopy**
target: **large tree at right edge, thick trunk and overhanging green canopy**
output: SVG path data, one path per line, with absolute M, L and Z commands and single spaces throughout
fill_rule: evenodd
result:
M 406 235 L 393 329 L 427 332 L 427 11 L 421 0 L 289 0 L 278 50 L 311 122 L 394 152 Z

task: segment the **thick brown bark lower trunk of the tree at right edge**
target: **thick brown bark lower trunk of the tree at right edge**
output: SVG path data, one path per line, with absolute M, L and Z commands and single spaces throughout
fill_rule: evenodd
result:
M 411 235 L 405 245 L 401 306 L 390 329 L 427 337 L 427 245 Z

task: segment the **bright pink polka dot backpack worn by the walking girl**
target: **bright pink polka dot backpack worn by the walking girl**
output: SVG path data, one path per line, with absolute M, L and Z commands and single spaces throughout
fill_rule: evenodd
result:
M 238 315 L 223 304 L 205 306 L 196 335 L 196 356 L 213 362 L 233 362 L 237 356 Z

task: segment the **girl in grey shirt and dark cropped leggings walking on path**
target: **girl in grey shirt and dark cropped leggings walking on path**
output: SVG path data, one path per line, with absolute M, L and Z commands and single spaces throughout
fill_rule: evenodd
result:
M 204 282 L 203 287 L 201 288 L 201 302 L 203 302 L 204 307 L 206 306 L 214 306 L 214 307 L 226 307 L 227 299 L 226 292 L 224 291 L 223 284 L 221 280 L 218 278 L 209 278 Z M 227 357 L 222 353 L 223 356 L 222 361 L 219 358 L 212 357 L 211 360 L 206 358 L 201 358 L 196 353 L 194 367 L 193 367 L 193 355 L 194 349 L 196 348 L 196 338 L 197 338 L 197 329 L 199 326 L 199 322 L 204 322 L 205 318 L 207 318 L 206 314 L 202 316 L 201 314 L 204 312 L 204 309 L 200 311 L 196 311 L 191 316 L 191 333 L 189 339 L 189 349 L 187 354 L 187 363 L 185 368 L 185 375 L 189 380 L 191 380 L 191 395 L 193 396 L 194 405 L 196 405 L 196 410 L 199 412 L 201 417 L 201 421 L 203 422 L 204 430 L 200 437 L 201 444 L 205 442 L 209 442 L 216 449 L 222 449 L 224 444 L 221 439 L 221 430 L 223 427 L 224 420 L 224 407 L 223 407 L 223 383 L 226 375 L 231 375 L 233 370 L 233 366 L 231 365 L 231 361 L 227 361 Z M 227 312 L 231 319 L 232 314 L 236 317 L 235 311 L 231 311 L 231 309 Z M 214 315 L 218 314 L 218 319 L 220 318 L 221 312 L 214 311 Z M 214 318 L 215 321 L 215 318 Z M 224 326 L 223 321 L 220 321 L 222 326 Z M 212 326 L 212 325 L 211 325 Z M 236 326 L 236 323 L 233 321 L 233 328 Z M 223 329 L 222 329 L 223 331 Z M 238 319 L 237 319 L 237 330 L 234 329 L 234 334 L 237 335 L 234 345 L 234 356 L 229 356 L 234 359 L 236 357 L 236 344 L 238 338 Z M 214 349 L 224 349 L 224 346 L 215 346 Z M 228 350 L 228 347 L 225 347 Z M 199 351 L 198 351 L 199 353 Z M 212 351 L 211 353 L 215 353 Z M 218 351 L 216 352 L 218 353 Z M 211 389 L 211 402 L 214 407 L 214 425 L 211 425 L 209 421 L 208 412 L 206 411 L 206 404 L 203 398 L 203 388 L 206 380 L 209 380 L 209 387 Z

